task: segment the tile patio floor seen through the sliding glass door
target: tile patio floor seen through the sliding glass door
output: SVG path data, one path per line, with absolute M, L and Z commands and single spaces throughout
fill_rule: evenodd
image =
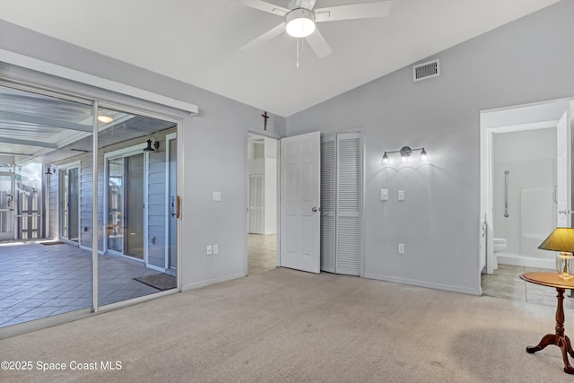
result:
M 99 304 L 155 292 L 133 278 L 159 272 L 128 259 L 100 256 Z M 0 244 L 0 327 L 91 308 L 91 251 L 68 244 Z

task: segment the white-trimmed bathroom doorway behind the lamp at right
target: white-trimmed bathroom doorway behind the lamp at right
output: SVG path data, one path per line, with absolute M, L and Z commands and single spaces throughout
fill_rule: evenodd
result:
M 481 113 L 483 273 L 499 264 L 555 267 L 555 254 L 538 246 L 571 224 L 573 107 L 555 100 Z

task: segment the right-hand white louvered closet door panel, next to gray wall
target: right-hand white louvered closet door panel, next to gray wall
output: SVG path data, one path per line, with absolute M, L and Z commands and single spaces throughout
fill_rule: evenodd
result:
M 361 136 L 337 135 L 335 273 L 361 272 Z

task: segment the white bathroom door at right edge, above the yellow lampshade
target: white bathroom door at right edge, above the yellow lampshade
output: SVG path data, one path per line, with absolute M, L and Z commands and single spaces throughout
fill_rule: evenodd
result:
M 561 228 L 570 227 L 570 139 L 568 129 L 568 111 L 562 115 L 556 126 L 556 188 L 554 202 L 556 202 L 556 225 Z

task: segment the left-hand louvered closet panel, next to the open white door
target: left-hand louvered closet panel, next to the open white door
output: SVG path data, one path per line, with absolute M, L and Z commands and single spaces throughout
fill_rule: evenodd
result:
M 321 271 L 335 273 L 336 135 L 321 137 Z

